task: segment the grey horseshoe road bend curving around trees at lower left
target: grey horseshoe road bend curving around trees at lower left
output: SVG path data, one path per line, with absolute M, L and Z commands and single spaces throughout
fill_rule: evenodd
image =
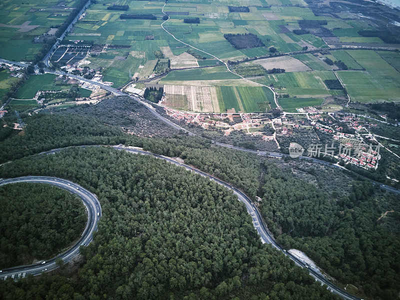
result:
M 79 240 L 65 252 L 45 261 L 45 263 L 34 263 L 29 265 L 20 265 L 2 269 L 0 279 L 5 280 L 12 278 L 14 280 L 23 278 L 29 274 L 39 275 L 42 272 L 48 272 L 58 267 L 55 263 L 56 258 L 61 258 L 64 262 L 70 261 L 79 252 L 80 245 L 87 245 L 93 238 L 92 232 L 97 230 L 97 221 L 101 216 L 101 207 L 95 194 L 89 192 L 87 189 L 80 185 L 57 177 L 48 176 L 23 176 L 16 178 L 2 179 L 0 185 L 17 183 L 17 182 L 35 182 L 46 183 L 65 189 L 80 197 L 87 211 L 87 222 L 85 229 Z M 98 215 L 97 215 L 98 214 Z

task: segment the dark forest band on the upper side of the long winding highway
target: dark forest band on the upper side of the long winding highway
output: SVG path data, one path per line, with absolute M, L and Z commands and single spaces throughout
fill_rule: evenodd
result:
M 1 143 L 3 160 L 35 153 L 44 148 L 86 141 L 110 144 L 121 142 L 142 146 L 146 150 L 171 157 L 182 157 L 186 162 L 242 188 L 253 200 L 260 197 L 259 207 L 267 225 L 285 247 L 303 250 L 327 273 L 343 283 L 352 283 L 366 293 L 383 299 L 395 298 L 393 295 L 400 290 L 399 269 L 396 264 L 400 258 L 400 247 L 398 232 L 393 228 L 400 224 L 396 218 L 396 212 L 400 209 L 393 195 L 372 187 L 367 181 L 354 180 L 342 171 L 328 167 L 326 170 L 329 171 L 329 176 L 324 180 L 329 184 L 322 186 L 318 181 L 321 170 L 316 171 L 315 165 L 310 165 L 305 171 L 296 165 L 281 168 L 279 171 L 280 162 L 275 164 L 267 160 L 261 163 L 261 157 L 257 155 L 214 147 L 210 141 L 200 137 L 171 134 L 169 136 L 173 138 L 161 139 L 123 134 L 116 127 L 120 127 L 118 122 L 123 121 L 126 114 L 118 109 L 107 110 L 107 107 L 112 107 L 112 103 L 121 105 L 123 99 L 124 97 L 116 97 L 110 102 L 104 101 L 105 106 L 102 108 L 98 105 L 103 101 L 97 105 L 80 105 L 71 108 L 65 115 L 54 110 L 53 114 L 26 116 L 24 120 L 28 125 L 23 131 L 3 127 L 0 130 L 0 138 L 4 138 Z M 118 105 L 114 107 L 119 107 Z M 129 107 L 133 104 L 126 105 Z M 77 115 L 71 117 L 71 111 L 77 112 Z M 109 115 L 103 113 L 104 111 L 109 111 Z M 85 113 L 88 117 L 79 116 Z M 101 116 L 101 113 L 104 115 Z M 101 119 L 101 122 L 95 117 Z M 102 122 L 112 123 L 113 126 Z M 29 125 L 32 128 L 28 129 Z M 165 125 L 160 124 L 159 130 L 163 129 Z M 65 134 L 62 130 L 71 134 Z M 301 131 L 297 133 L 299 138 L 303 135 Z M 319 134 L 319 138 L 323 136 Z M 40 145 L 37 148 L 34 147 L 36 142 Z M 77 176 L 76 172 L 87 167 L 79 164 L 83 163 L 81 156 L 84 155 L 84 150 L 81 151 L 78 154 L 68 152 L 75 161 L 73 171 L 72 166 L 61 164 L 60 169 L 51 173 L 50 170 L 58 167 L 57 162 L 54 160 L 54 166 L 50 167 L 43 159 L 54 156 L 43 155 L 35 160 L 22 159 L 18 162 L 20 167 L 16 167 L 16 162 L 5 164 L 0 169 L 0 177 L 23 173 L 65 175 L 66 178 Z M 282 164 L 292 162 L 287 160 Z M 105 165 L 102 167 L 107 168 Z M 62 173 L 63 170 L 66 173 Z M 295 175 L 298 173 L 302 175 Z M 93 191 L 100 192 L 96 188 L 111 179 L 99 178 L 96 173 L 82 180 L 81 182 L 88 182 L 86 187 L 92 186 Z M 335 184 L 337 180 L 340 180 L 340 185 Z M 112 186 L 119 186 L 119 183 L 113 184 Z M 106 188 L 109 189 L 107 186 Z M 115 189 L 119 190 L 119 187 Z M 391 210 L 394 212 L 379 218 Z M 355 267 L 354 261 L 361 267 Z

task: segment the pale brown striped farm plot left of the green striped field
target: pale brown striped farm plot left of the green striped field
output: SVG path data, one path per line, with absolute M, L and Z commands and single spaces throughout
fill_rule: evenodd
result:
M 215 87 L 166 84 L 164 85 L 165 100 L 163 104 L 179 110 L 213 112 L 212 103 L 217 103 L 218 100 L 212 89 Z

